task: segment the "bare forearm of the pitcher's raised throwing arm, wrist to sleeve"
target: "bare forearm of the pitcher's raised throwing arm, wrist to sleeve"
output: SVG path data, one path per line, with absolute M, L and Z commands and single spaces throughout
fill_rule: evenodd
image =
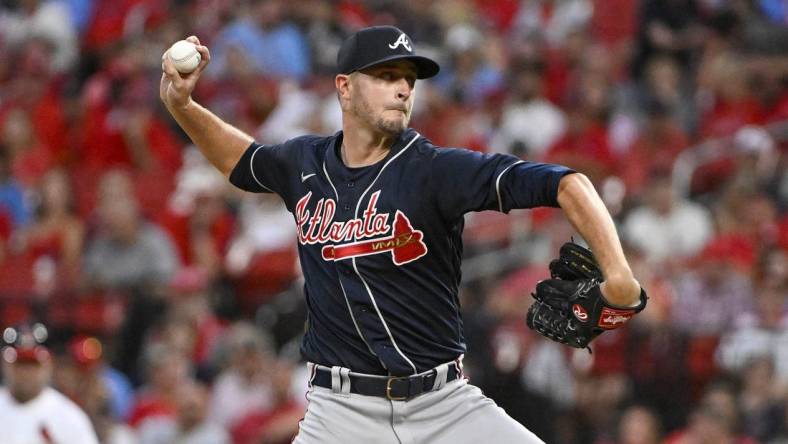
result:
M 227 177 L 254 141 L 252 136 L 193 100 L 185 106 L 167 106 L 167 109 L 205 158 Z

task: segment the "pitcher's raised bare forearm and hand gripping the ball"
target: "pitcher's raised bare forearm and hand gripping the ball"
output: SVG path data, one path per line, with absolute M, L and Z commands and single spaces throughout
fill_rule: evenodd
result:
M 159 97 L 205 158 L 229 177 L 233 167 L 254 139 L 192 100 L 192 91 L 200 74 L 210 63 L 211 54 L 207 47 L 200 45 L 197 37 L 191 36 L 186 40 L 197 45 L 202 60 L 193 72 L 181 74 L 165 52 L 161 59 L 163 72 Z

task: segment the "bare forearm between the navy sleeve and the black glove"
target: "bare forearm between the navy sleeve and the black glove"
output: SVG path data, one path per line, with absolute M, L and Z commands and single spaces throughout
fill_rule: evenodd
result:
M 624 256 L 613 219 L 591 181 L 582 174 L 564 176 L 558 188 L 558 203 L 594 252 L 605 276 L 605 299 L 616 305 L 637 303 L 640 284 Z

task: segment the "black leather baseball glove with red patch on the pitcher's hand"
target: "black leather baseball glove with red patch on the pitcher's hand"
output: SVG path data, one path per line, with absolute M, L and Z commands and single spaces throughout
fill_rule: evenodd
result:
M 648 297 L 640 290 L 640 303 L 620 307 L 607 302 L 599 289 L 602 271 L 591 250 L 565 243 L 550 262 L 550 276 L 536 285 L 536 301 L 528 309 L 526 323 L 538 333 L 562 344 L 588 348 L 606 330 L 624 325 L 646 307 Z M 590 348 L 589 348 L 590 351 Z

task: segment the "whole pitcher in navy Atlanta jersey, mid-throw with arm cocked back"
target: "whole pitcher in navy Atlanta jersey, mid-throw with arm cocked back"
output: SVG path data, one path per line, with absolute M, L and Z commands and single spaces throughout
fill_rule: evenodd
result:
M 586 347 L 646 300 L 590 181 L 559 165 L 441 148 L 408 128 L 416 81 L 439 67 L 396 27 L 365 28 L 342 44 L 341 131 L 277 145 L 256 143 L 191 97 L 211 58 L 188 40 L 202 60 L 184 75 L 163 57 L 161 100 L 232 184 L 276 193 L 293 214 L 310 375 L 294 442 L 542 442 L 463 376 L 463 216 L 563 209 L 594 254 L 562 249 L 526 322 Z

